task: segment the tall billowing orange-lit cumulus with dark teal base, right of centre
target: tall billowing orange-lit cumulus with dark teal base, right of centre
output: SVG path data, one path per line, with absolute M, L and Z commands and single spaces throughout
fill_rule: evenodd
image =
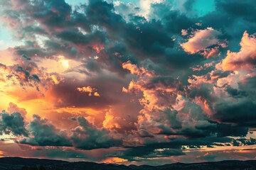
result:
M 138 79 L 132 80 L 128 89 L 124 88 L 123 91 L 143 94 L 139 99 L 143 106 L 138 116 L 139 130 L 146 130 L 149 134 L 190 137 L 204 134 L 202 130 L 196 129 L 200 121 L 208 123 L 201 106 L 178 94 L 180 88 L 178 79 L 158 76 L 130 62 L 124 63 L 123 67 L 138 76 Z

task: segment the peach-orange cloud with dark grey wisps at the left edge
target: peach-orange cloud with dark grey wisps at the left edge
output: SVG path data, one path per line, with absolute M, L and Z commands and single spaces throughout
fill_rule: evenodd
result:
M 36 89 L 43 95 L 49 86 L 54 84 L 53 74 L 48 74 L 43 68 L 38 67 L 35 60 L 31 60 L 27 55 L 18 55 L 14 49 L 9 49 L 12 65 L 0 63 L 1 80 L 5 82 L 3 86 L 19 86 L 22 89 Z M 5 54 L 4 54 L 5 55 Z M 3 56 L 5 57 L 5 56 Z M 7 57 L 7 56 L 6 56 Z M 60 79 L 55 74 L 55 79 Z

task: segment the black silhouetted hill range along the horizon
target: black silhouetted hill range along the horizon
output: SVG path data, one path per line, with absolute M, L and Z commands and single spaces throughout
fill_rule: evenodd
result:
M 195 164 L 166 164 L 161 166 L 149 165 L 117 165 L 97 164 L 93 162 L 65 162 L 50 159 L 27 159 L 20 157 L 0 158 L 0 169 L 9 170 L 256 170 L 256 160 L 251 161 L 222 161 Z

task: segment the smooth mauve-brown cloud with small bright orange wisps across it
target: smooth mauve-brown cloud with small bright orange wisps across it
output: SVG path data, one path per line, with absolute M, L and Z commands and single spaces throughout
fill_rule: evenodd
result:
M 72 78 L 67 77 L 65 81 L 60 82 L 60 84 L 55 84 L 52 89 L 50 89 L 51 96 L 54 96 L 58 100 L 58 102 L 55 103 L 55 107 L 65 108 L 75 106 L 77 108 L 102 109 L 114 103 L 118 103 L 117 99 L 112 96 L 112 93 L 117 92 L 111 87 L 115 86 L 118 88 L 120 86 L 121 89 L 122 85 L 119 84 L 119 80 L 114 77 L 113 79 L 110 77 L 107 79 L 105 75 L 100 75 L 100 77 L 105 81 L 105 84 L 98 84 L 99 77 L 87 79 L 87 82 L 90 82 L 90 84 L 85 84 L 85 82 L 81 80 L 74 81 Z M 70 84 L 69 82 L 73 83 Z M 84 90 L 87 92 L 83 89 L 78 91 L 77 88 L 82 88 L 83 86 L 85 87 Z

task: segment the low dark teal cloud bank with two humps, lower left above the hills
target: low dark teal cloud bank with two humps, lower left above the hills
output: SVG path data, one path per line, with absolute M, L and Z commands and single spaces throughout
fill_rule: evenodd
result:
M 15 113 L 16 114 L 16 113 Z M 19 114 L 19 113 L 18 113 Z M 21 117 L 22 118 L 22 117 Z M 6 118 L 3 119 L 4 121 Z M 27 125 L 26 132 L 30 136 L 18 141 L 21 144 L 35 146 L 55 146 L 55 147 L 75 147 L 77 149 L 98 149 L 109 148 L 122 145 L 122 140 L 110 135 L 110 131 L 105 128 L 97 128 L 89 123 L 85 118 L 73 119 L 78 122 L 76 128 L 70 131 L 63 131 L 55 127 L 49 120 L 42 119 L 39 115 L 33 115 L 33 120 Z M 10 124 L 10 123 L 9 123 Z M 6 124 L 6 131 L 13 132 L 14 135 L 28 135 L 17 133 L 17 128 Z M 21 125 L 18 125 L 18 128 Z

